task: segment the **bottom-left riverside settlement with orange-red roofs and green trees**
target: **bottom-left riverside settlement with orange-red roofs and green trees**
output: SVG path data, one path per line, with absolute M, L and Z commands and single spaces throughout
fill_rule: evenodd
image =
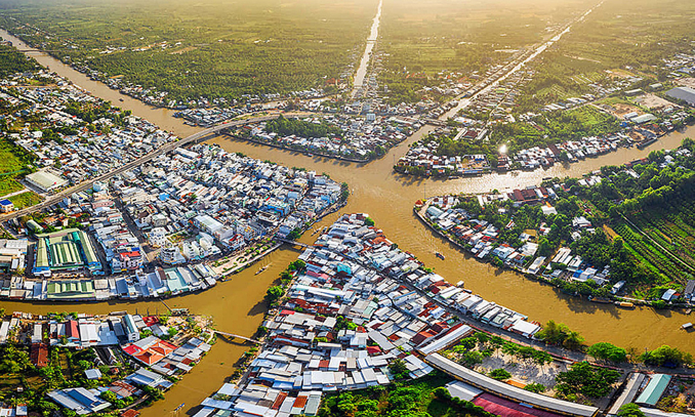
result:
M 8 371 L 0 393 L 23 404 L 25 414 L 19 415 L 147 407 L 214 343 L 210 318 L 181 311 L 161 316 L 15 311 L 1 320 L 0 356 Z M 8 368 L 12 361 L 15 366 Z

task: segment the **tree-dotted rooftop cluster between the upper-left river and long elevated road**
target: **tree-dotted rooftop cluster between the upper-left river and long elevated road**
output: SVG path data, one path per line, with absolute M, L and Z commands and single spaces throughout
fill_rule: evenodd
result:
M 9 137 L 34 154 L 38 166 L 51 167 L 72 183 L 104 174 L 177 140 L 49 72 L 31 78 L 55 86 L 28 87 L 19 85 L 18 79 L 0 81 L 0 98 L 21 109 L 6 116 L 6 122 L 38 118 L 41 126 L 23 127 Z

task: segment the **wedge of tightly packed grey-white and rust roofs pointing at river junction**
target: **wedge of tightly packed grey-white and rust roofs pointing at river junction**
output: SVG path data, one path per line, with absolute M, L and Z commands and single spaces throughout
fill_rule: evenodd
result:
M 430 354 L 473 333 L 458 315 L 532 336 L 525 316 L 451 286 L 399 250 L 364 214 L 343 215 L 295 262 L 267 343 L 243 384 L 225 384 L 197 416 L 218 410 L 263 416 L 316 415 L 322 393 L 421 377 Z M 404 375 L 394 375 L 394 361 Z

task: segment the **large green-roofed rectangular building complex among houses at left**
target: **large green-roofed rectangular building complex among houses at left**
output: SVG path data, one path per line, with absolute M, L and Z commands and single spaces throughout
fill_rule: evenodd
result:
M 101 262 L 89 236 L 78 229 L 40 234 L 36 238 L 33 275 L 51 276 L 53 272 L 101 270 Z

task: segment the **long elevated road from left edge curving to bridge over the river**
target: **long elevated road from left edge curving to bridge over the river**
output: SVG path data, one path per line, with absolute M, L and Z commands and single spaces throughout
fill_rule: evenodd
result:
M 136 167 L 139 167 L 143 163 L 152 161 L 157 156 L 160 156 L 162 154 L 170 152 L 170 151 L 176 149 L 177 147 L 186 146 L 190 142 L 207 140 L 211 136 L 218 136 L 220 131 L 222 131 L 224 129 L 228 129 L 230 127 L 236 127 L 236 126 L 243 126 L 244 124 L 249 124 L 249 123 L 265 122 L 268 120 L 277 119 L 277 117 L 279 117 L 279 114 L 269 115 L 269 116 L 260 116 L 260 117 L 250 117 L 250 118 L 244 119 L 244 120 L 236 120 L 234 122 L 227 122 L 224 124 L 218 124 L 217 126 L 213 126 L 211 128 L 199 131 L 198 133 L 194 133 L 193 135 L 188 136 L 187 138 L 183 138 L 183 139 L 177 140 L 175 142 L 167 143 L 165 145 L 162 145 L 158 149 L 150 152 L 149 154 L 142 156 L 142 157 L 136 159 L 135 161 L 131 161 L 129 163 L 126 163 L 125 165 L 122 165 L 121 167 L 118 167 L 111 172 L 106 172 L 106 174 L 101 174 L 99 177 L 88 179 L 87 181 L 83 181 L 83 182 L 77 184 L 76 186 L 72 186 L 70 188 L 65 188 L 65 190 L 62 190 L 54 195 L 50 195 L 49 197 L 44 199 L 44 201 L 40 202 L 39 204 L 36 204 L 35 206 L 22 208 L 22 210 L 13 211 L 12 213 L 2 215 L 2 216 L 0 216 L 0 221 L 6 222 L 7 220 L 19 218 L 23 215 L 28 215 L 28 214 L 31 214 L 35 211 L 40 211 L 43 208 L 47 208 L 49 206 L 57 204 L 58 202 L 60 202 L 60 200 L 62 200 L 63 198 L 65 198 L 67 196 L 70 196 L 74 193 L 78 193 L 79 191 L 86 190 L 87 188 L 90 188 L 97 181 L 101 181 L 101 182 L 108 181 L 109 179 L 111 179 L 115 175 L 122 174 L 123 172 L 132 170 L 133 168 L 136 168 Z

